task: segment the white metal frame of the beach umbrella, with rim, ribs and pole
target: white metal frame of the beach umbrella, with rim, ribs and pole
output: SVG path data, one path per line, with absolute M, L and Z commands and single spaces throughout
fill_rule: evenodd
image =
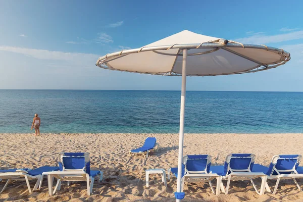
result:
M 279 57 L 280 59 L 277 61 L 273 61 L 269 64 L 265 64 L 254 58 L 250 58 L 250 57 L 244 56 L 238 52 L 232 51 L 231 49 L 229 49 L 229 47 L 262 49 L 264 51 L 278 54 L 280 56 Z M 179 49 L 177 51 L 177 54 L 160 52 L 163 50 L 167 51 L 169 49 L 175 49 L 175 48 Z M 210 51 L 203 52 L 203 49 L 210 49 L 210 48 L 213 48 L 213 49 L 211 49 Z M 190 49 L 201 49 L 201 52 L 188 54 L 188 50 L 190 50 Z M 220 49 L 224 49 L 225 51 L 227 51 L 231 54 L 239 56 L 250 62 L 254 62 L 257 64 L 257 66 L 249 67 L 244 70 L 242 69 L 241 71 L 235 71 L 235 72 L 230 72 L 230 73 L 221 73 L 221 74 L 220 73 L 217 73 L 217 74 L 187 74 L 186 73 L 186 71 L 187 71 L 186 65 L 187 65 L 188 56 L 211 54 L 216 51 L 219 51 Z M 170 71 L 156 72 L 156 73 L 155 72 L 151 73 L 151 72 L 143 72 L 143 71 L 121 70 L 121 69 L 116 69 L 115 67 L 113 67 L 109 64 L 109 62 L 111 62 L 111 61 L 128 56 L 130 54 L 137 54 L 140 52 L 154 52 L 154 53 L 161 54 L 161 55 L 176 56 L 176 60 L 177 60 L 177 57 L 182 56 L 182 74 L 180 74 L 178 72 L 174 72 L 174 65 L 175 65 L 176 60 L 175 60 L 174 64 L 172 65 L 172 68 Z M 161 45 L 161 46 L 143 46 L 141 48 L 122 50 L 120 52 L 107 54 L 106 56 L 100 57 L 96 62 L 96 66 L 103 68 L 103 69 L 118 70 L 118 71 L 125 71 L 125 72 L 136 72 L 136 73 L 142 73 L 142 74 L 153 74 L 153 75 L 163 75 L 163 76 L 182 76 L 179 151 L 178 151 L 178 176 L 177 176 L 177 192 L 176 192 L 176 193 L 181 193 L 181 179 L 182 179 L 181 172 L 182 172 L 183 140 L 184 140 L 184 111 L 185 111 L 185 94 L 186 94 L 186 76 L 217 76 L 217 75 L 254 73 L 254 72 L 260 72 L 260 71 L 272 69 L 272 68 L 278 67 L 280 65 L 284 65 L 289 60 L 290 60 L 290 54 L 280 48 L 270 47 L 270 46 L 266 46 L 266 45 L 242 44 L 242 43 L 232 41 L 232 40 L 217 39 L 217 40 L 212 40 L 212 41 L 207 41 L 207 42 L 202 42 L 202 43 L 170 44 L 170 45 Z M 180 201 L 180 199 L 182 199 L 182 197 L 177 198 L 177 201 Z

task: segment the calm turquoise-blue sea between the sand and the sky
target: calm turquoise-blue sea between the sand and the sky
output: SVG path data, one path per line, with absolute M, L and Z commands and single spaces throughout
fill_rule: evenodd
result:
M 178 133 L 180 91 L 0 90 L 0 133 Z M 187 91 L 186 133 L 302 133 L 303 92 Z

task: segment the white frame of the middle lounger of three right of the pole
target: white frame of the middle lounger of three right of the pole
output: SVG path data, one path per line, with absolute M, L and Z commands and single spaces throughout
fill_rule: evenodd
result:
M 228 163 L 228 168 L 227 168 L 227 174 L 226 176 L 222 177 L 222 180 L 227 180 L 227 185 L 226 185 L 226 191 L 225 194 L 228 194 L 228 190 L 229 190 L 229 185 L 230 185 L 230 181 L 238 181 L 238 180 L 249 180 L 252 184 L 252 186 L 255 188 L 256 192 L 259 195 L 263 195 L 265 192 L 265 188 L 267 189 L 267 191 L 270 192 L 269 187 L 266 183 L 266 179 L 267 179 L 267 175 L 265 175 L 264 173 L 257 173 L 257 172 L 251 172 L 250 169 L 250 165 L 251 162 L 248 166 L 248 169 L 244 169 L 244 170 L 232 170 L 230 168 L 230 160 L 233 158 L 251 158 L 251 162 L 255 162 L 256 159 L 256 155 L 251 154 L 249 157 L 233 157 L 232 154 L 227 155 L 226 157 L 226 163 Z M 228 171 L 230 171 L 231 173 L 228 174 Z M 257 189 L 256 184 L 254 182 L 253 179 L 256 178 L 261 178 L 262 179 L 262 183 L 261 183 L 261 188 L 260 191 Z

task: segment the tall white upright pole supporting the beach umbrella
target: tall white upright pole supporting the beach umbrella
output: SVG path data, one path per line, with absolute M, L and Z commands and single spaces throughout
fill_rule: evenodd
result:
M 177 176 L 177 192 L 181 192 L 182 187 L 182 159 L 183 159 L 183 140 L 184 140 L 184 108 L 186 93 L 186 60 L 187 49 L 183 49 L 182 61 L 182 87 L 181 87 L 181 106 L 180 106 L 180 130 L 179 130 L 179 155 L 178 155 L 178 176 Z M 177 202 L 180 199 L 177 199 Z

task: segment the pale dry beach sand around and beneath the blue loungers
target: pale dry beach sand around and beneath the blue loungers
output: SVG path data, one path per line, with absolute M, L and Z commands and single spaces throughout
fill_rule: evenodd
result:
M 256 163 L 268 165 L 278 154 L 303 154 L 303 134 L 185 134 L 184 154 L 209 154 L 212 165 L 221 165 L 229 153 L 254 153 Z M 130 157 L 128 151 L 141 145 L 146 137 L 157 137 L 160 149 L 147 159 Z M 48 196 L 47 180 L 40 191 L 29 194 L 25 182 L 12 182 L 0 201 L 175 201 L 176 178 L 165 187 L 160 175 L 149 176 L 145 188 L 145 169 L 176 167 L 178 134 L 1 134 L 1 168 L 36 168 L 57 165 L 57 154 L 62 151 L 87 151 L 91 168 L 104 172 L 104 180 L 96 182 L 93 193 L 87 196 L 85 182 L 74 182 L 54 196 Z M 302 184 L 303 180 L 299 180 Z M 30 184 L 33 187 L 34 181 Z M 260 181 L 256 180 L 257 186 Z M 0 182 L 0 188 L 5 182 Z M 214 180 L 214 186 L 216 180 Z M 228 195 L 211 192 L 207 183 L 185 183 L 182 201 L 303 201 L 293 181 L 281 180 L 276 195 L 266 192 L 260 196 L 249 181 L 232 182 Z M 273 188 L 274 181 L 269 181 Z

